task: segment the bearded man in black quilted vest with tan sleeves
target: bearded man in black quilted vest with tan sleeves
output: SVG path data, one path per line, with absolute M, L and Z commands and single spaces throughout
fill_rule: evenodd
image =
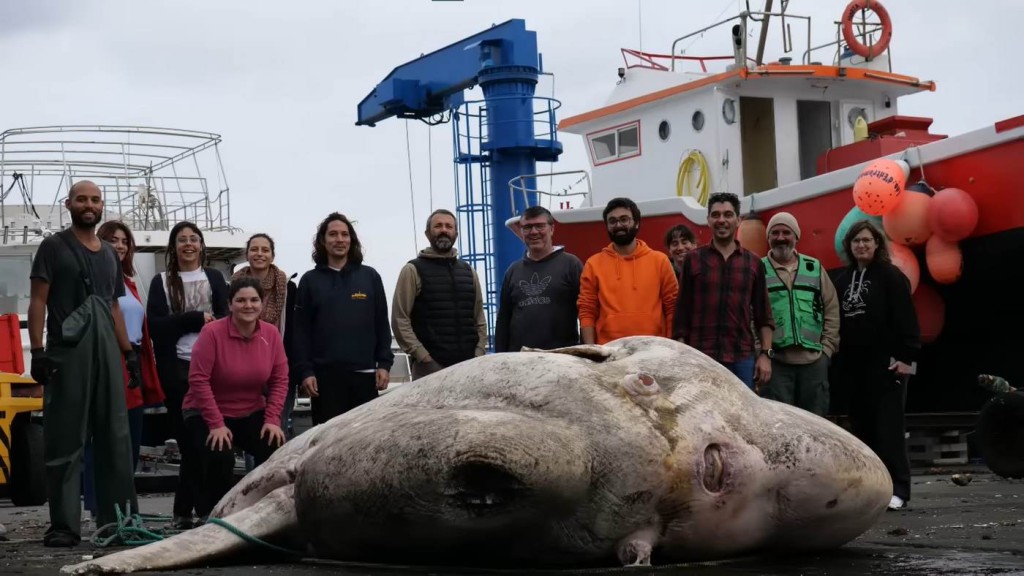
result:
M 413 359 L 414 380 L 486 352 L 480 281 L 473 268 L 458 258 L 457 229 L 455 214 L 434 210 L 424 233 L 430 247 L 398 273 L 391 329 Z

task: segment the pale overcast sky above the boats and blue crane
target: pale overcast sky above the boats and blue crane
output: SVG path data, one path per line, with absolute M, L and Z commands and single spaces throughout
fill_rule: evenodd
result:
M 425 246 L 428 138 L 433 205 L 455 204 L 449 125 L 409 125 L 415 220 L 404 121 L 354 125 L 356 105 L 392 68 L 521 17 L 538 32 L 565 118 L 605 100 L 622 66 L 620 48 L 639 47 L 641 32 L 643 49 L 668 52 L 673 39 L 734 15 L 739 4 L 641 0 L 638 10 L 637 0 L 0 0 L 0 128 L 137 124 L 219 133 L 232 224 L 272 235 L 279 265 L 302 273 L 311 268 L 316 223 L 342 211 L 357 220 L 367 263 L 381 273 L 390 301 L 398 269 Z M 884 4 L 894 20 L 894 72 L 938 85 L 901 100 L 902 114 L 934 117 L 932 131 L 949 135 L 1024 114 L 1024 80 L 1013 73 L 1024 2 Z M 834 37 L 829 23 L 845 5 L 794 0 L 790 10 L 814 18 L 820 44 Z M 793 22 L 798 38 L 802 26 Z M 723 29 L 688 53 L 730 53 L 727 40 Z M 766 58 L 780 55 L 773 36 Z M 587 168 L 580 138 L 561 139 L 566 152 L 556 168 Z

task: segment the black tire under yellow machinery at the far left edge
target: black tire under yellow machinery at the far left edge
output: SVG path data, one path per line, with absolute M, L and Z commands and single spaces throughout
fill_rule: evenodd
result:
M 43 426 L 29 413 L 14 417 L 10 426 L 10 501 L 15 506 L 46 503 L 46 461 Z

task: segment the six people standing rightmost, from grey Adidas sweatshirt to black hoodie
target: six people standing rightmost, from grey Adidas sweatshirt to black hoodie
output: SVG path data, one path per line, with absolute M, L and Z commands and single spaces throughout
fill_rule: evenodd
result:
M 767 255 L 741 246 L 733 194 L 710 197 L 712 238 L 702 246 L 679 224 L 666 232 L 665 252 L 651 249 L 637 238 L 641 213 L 628 198 L 609 201 L 602 217 L 610 243 L 581 262 L 554 246 L 550 212 L 522 214 L 527 251 L 505 275 L 496 352 L 670 337 L 762 397 L 819 416 L 828 412 L 831 374 L 850 394 L 854 434 L 889 468 L 890 508 L 906 504 L 903 410 L 920 329 L 909 281 L 892 263 L 882 231 L 868 220 L 851 227 L 843 242 L 849 265 L 834 279 L 797 250 L 800 223 L 787 212 L 767 224 Z

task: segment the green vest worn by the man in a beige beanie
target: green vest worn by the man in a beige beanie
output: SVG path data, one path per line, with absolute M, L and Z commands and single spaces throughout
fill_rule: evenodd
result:
M 821 262 L 803 254 L 798 254 L 798 257 L 793 289 L 778 277 L 768 256 L 761 258 L 768 284 L 768 301 L 775 317 L 772 346 L 798 345 L 821 351 L 821 330 L 825 320 L 821 298 Z

